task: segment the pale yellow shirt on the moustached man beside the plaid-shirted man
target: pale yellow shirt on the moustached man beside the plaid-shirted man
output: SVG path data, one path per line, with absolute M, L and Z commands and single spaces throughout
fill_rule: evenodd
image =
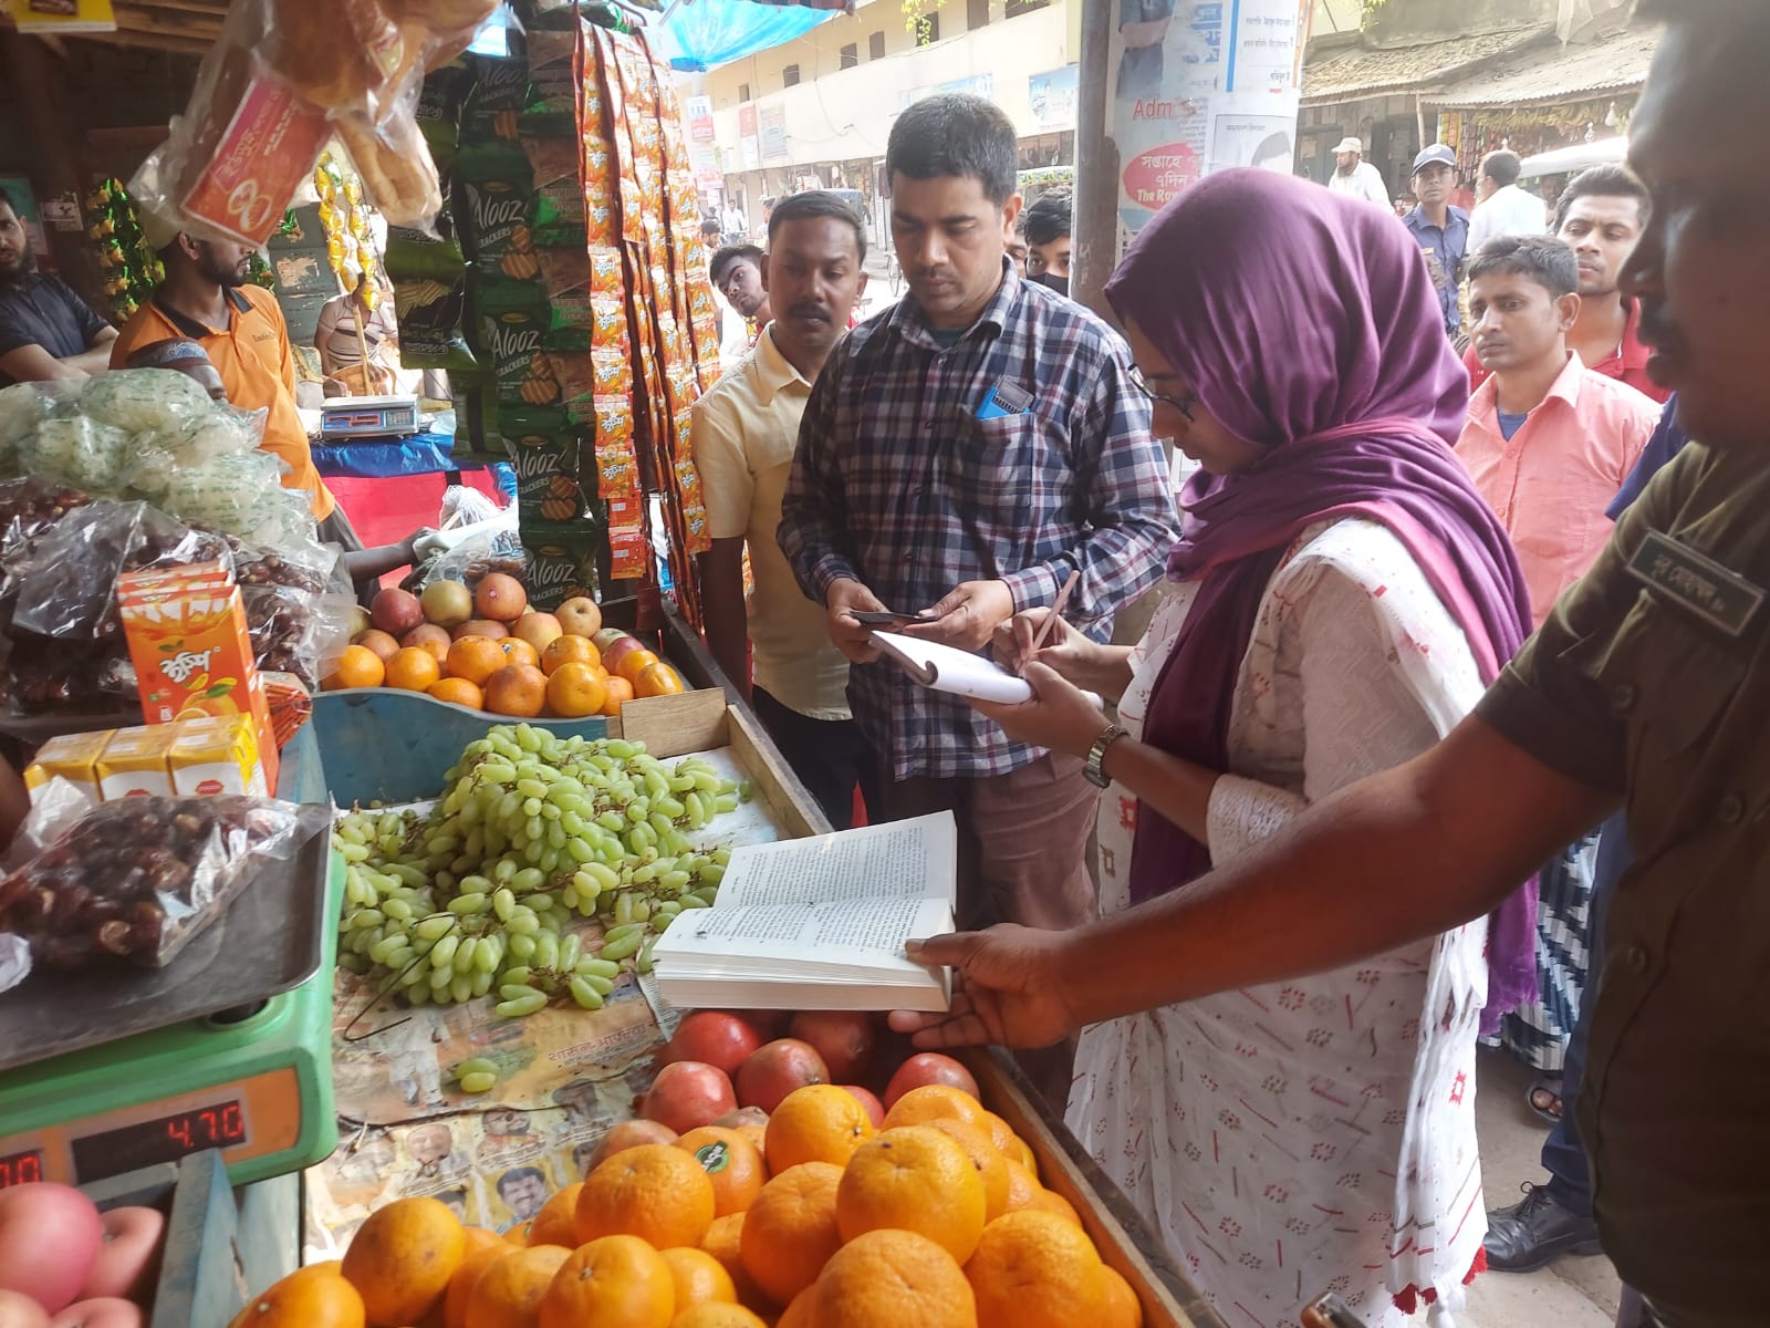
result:
M 848 719 L 848 659 L 830 645 L 823 609 L 805 598 L 775 528 L 811 384 L 768 328 L 756 347 L 694 404 L 694 464 L 708 533 L 750 547 L 750 645 L 756 685 L 811 719 Z

